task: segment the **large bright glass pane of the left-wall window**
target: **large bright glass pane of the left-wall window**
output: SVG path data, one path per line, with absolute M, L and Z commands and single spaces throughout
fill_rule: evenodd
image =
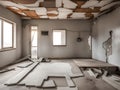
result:
M 3 21 L 3 48 L 12 46 L 12 24 Z

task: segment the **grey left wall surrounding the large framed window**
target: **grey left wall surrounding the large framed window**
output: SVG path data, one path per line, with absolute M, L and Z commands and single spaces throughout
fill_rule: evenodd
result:
M 21 57 L 21 19 L 16 14 L 0 6 L 0 17 L 6 18 L 16 23 L 16 44 L 15 50 L 0 52 L 0 67 L 3 67 Z

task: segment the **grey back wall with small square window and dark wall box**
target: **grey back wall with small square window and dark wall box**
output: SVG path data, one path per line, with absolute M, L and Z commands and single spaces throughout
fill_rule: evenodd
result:
M 38 56 L 51 58 L 72 58 L 84 57 L 91 58 L 91 51 L 88 46 L 88 36 L 90 33 L 90 21 L 85 20 L 24 20 L 23 21 L 23 56 L 30 54 L 29 39 L 30 25 L 38 26 Z M 52 30 L 67 30 L 67 46 L 55 47 L 52 45 Z M 48 30 L 49 36 L 41 36 L 41 31 Z M 76 42 L 78 32 L 82 42 Z

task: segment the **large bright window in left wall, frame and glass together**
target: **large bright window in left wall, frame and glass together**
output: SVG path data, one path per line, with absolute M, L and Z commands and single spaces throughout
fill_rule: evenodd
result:
M 0 51 L 16 47 L 15 23 L 0 18 Z

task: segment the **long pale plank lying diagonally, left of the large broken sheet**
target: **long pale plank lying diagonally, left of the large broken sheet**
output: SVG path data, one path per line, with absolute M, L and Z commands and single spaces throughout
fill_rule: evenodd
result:
M 39 62 L 35 62 L 33 65 L 31 65 L 28 68 L 25 68 L 23 71 L 21 71 L 19 74 L 16 76 L 12 77 L 9 79 L 5 85 L 16 85 L 18 84 L 21 80 L 23 80 L 37 65 Z

